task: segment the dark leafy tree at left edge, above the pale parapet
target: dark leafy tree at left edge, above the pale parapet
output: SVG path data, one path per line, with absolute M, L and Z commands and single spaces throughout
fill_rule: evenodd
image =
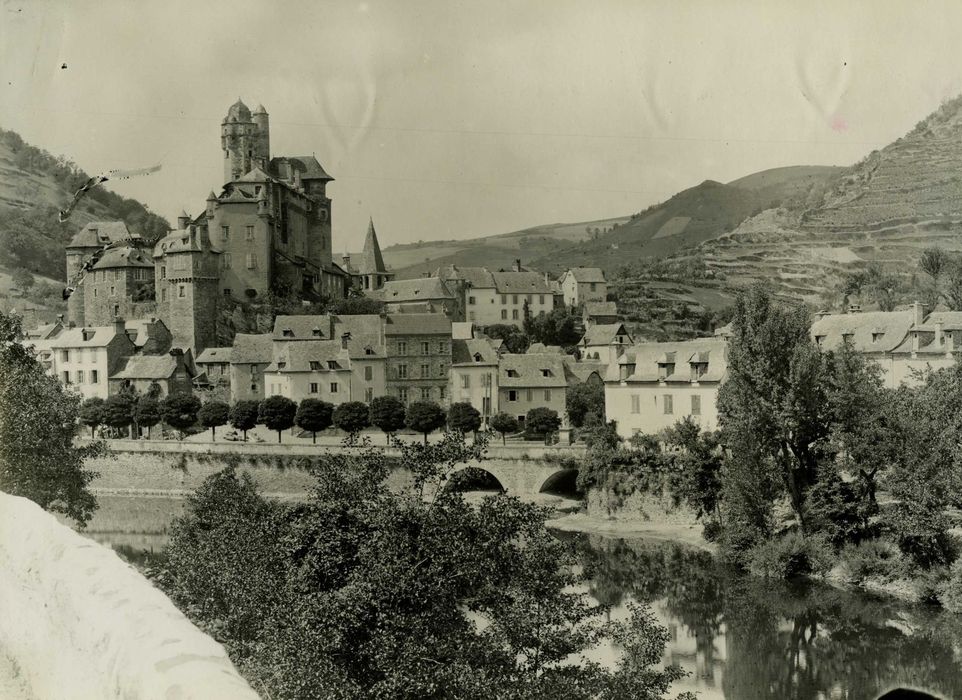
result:
M 103 442 L 74 443 L 80 397 L 67 392 L 20 344 L 18 316 L 0 312 L 0 490 L 64 513 L 82 527 L 97 509 L 84 462 Z

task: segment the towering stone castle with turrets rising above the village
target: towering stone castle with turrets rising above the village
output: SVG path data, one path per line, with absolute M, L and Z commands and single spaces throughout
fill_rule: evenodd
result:
M 157 241 L 131 235 L 120 222 L 88 224 L 67 247 L 67 277 L 107 244 L 68 300 L 77 325 L 110 324 L 148 313 L 153 303 L 174 345 L 200 352 L 216 345 L 222 299 L 254 301 L 268 292 L 305 299 L 343 297 L 351 271 L 333 260 L 331 200 L 334 178 L 313 155 L 272 157 L 267 111 L 240 100 L 221 122 L 224 186 L 211 192 L 199 216 L 187 213 Z M 376 242 L 375 242 L 376 245 Z M 380 251 L 378 251 L 380 252 Z M 152 270 L 151 270 L 152 267 Z

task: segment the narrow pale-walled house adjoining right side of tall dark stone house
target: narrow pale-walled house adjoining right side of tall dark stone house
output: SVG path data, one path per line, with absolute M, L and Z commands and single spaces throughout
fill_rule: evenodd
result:
M 485 428 L 491 416 L 501 410 L 498 402 L 501 342 L 472 338 L 451 343 L 451 402 L 474 406 Z

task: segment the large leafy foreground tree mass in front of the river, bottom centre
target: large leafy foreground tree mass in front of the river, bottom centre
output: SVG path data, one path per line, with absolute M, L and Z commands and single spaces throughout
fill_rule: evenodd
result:
M 666 632 L 646 609 L 610 624 L 576 592 L 544 510 L 438 489 L 476 448 L 402 450 L 422 488 L 401 494 L 373 448 L 326 456 L 306 503 L 210 477 L 155 581 L 265 697 L 653 699 L 682 675 L 658 669 Z M 614 671 L 578 658 L 604 637 L 625 650 Z

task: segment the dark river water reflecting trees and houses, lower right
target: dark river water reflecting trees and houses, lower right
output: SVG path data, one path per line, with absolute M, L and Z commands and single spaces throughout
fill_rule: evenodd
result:
M 962 617 L 811 582 L 777 583 L 708 552 L 641 539 L 560 534 L 588 592 L 627 617 L 650 603 L 671 642 L 666 663 L 691 672 L 678 690 L 700 698 L 876 698 L 893 687 L 962 698 Z M 596 650 L 614 663 L 618 651 Z

